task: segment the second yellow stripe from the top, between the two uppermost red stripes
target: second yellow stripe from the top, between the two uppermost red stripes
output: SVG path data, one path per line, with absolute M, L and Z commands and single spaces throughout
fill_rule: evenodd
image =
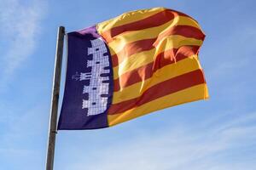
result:
M 110 53 L 112 55 L 119 53 L 129 42 L 136 42 L 143 39 L 158 37 L 160 36 L 160 33 L 172 28 L 173 26 L 194 26 L 200 29 L 200 26 L 195 22 L 195 20 L 185 16 L 177 16 L 164 25 L 139 31 L 128 31 L 120 34 L 117 37 L 114 37 L 114 41 L 108 43 Z

